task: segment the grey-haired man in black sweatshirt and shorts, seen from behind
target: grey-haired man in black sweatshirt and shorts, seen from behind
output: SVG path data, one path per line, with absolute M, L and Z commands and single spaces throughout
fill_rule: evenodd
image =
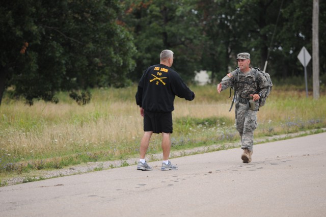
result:
M 136 93 L 136 103 L 144 117 L 144 135 L 140 145 L 140 160 L 137 170 L 152 170 L 145 161 L 149 141 L 154 133 L 162 133 L 163 162 L 161 170 L 177 170 L 169 160 L 171 149 L 172 111 L 175 96 L 193 100 L 195 93 L 184 84 L 180 75 L 171 69 L 173 52 L 163 50 L 160 64 L 147 68 L 141 77 Z

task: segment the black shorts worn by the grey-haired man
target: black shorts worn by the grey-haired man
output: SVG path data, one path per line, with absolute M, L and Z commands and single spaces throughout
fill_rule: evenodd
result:
M 172 133 L 172 112 L 144 111 L 144 131 Z

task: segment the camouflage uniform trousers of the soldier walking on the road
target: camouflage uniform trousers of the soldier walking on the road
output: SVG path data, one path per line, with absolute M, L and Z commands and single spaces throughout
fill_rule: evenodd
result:
M 254 130 L 257 128 L 257 111 L 247 110 L 247 105 L 235 106 L 235 124 L 241 137 L 241 149 L 253 150 Z

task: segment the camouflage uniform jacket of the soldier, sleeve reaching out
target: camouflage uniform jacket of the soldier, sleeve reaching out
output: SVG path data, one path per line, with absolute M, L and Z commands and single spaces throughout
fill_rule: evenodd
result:
M 264 96 L 265 93 L 267 92 L 267 89 L 269 87 L 269 84 L 265 78 L 264 75 L 262 75 L 259 71 L 257 71 L 254 68 L 251 68 L 250 72 L 243 73 L 241 72 L 240 69 L 236 69 L 229 74 L 227 74 L 223 79 L 222 79 L 222 90 L 227 89 L 228 87 L 233 87 L 234 85 L 234 80 L 235 80 L 235 74 L 238 73 L 239 80 L 237 83 L 236 82 L 236 94 L 237 94 L 237 99 L 238 97 L 240 98 L 249 98 L 250 94 L 260 94 L 261 96 Z M 255 73 L 258 74 L 258 83 L 254 83 L 255 79 Z M 244 83 L 240 83 L 244 82 Z M 257 87 L 259 87 L 260 91 L 258 92 Z

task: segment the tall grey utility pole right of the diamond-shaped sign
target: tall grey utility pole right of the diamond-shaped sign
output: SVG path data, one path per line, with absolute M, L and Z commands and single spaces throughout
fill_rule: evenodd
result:
M 319 98 L 319 0 L 313 0 L 312 6 L 312 85 L 314 99 Z

